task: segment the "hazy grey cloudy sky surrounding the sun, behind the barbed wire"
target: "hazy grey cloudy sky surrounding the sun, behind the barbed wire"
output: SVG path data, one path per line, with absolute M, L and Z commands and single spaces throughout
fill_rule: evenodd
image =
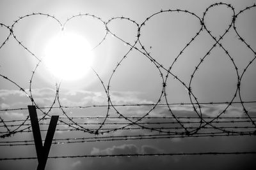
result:
M 85 140 L 78 140 L 78 138 L 97 139 L 108 136 L 161 135 L 167 134 L 168 131 L 183 132 L 183 127 L 195 128 L 200 125 L 195 123 L 200 118 L 195 120 L 184 118 L 177 121 L 173 117 L 201 116 L 205 120 L 211 120 L 211 118 L 220 116 L 221 118 L 217 121 L 232 120 L 228 117 L 239 117 L 237 121 L 250 120 L 248 115 L 255 117 L 255 103 L 239 103 L 256 101 L 254 74 L 256 66 L 253 60 L 256 51 L 255 7 L 237 16 L 236 29 L 233 25 L 230 29 L 228 27 L 232 24 L 234 14 L 252 6 L 256 1 L 226 0 L 222 2 L 231 4 L 234 11 L 223 4 L 209 8 L 204 15 L 209 6 L 220 3 L 220 1 L 203 0 L 1 1 L 0 23 L 12 27 L 15 20 L 18 20 L 17 24 L 12 27 L 14 36 L 10 36 L 5 45 L 0 48 L 1 135 L 8 131 L 3 121 L 6 125 L 10 125 L 8 128 L 13 131 L 19 127 L 22 120 L 28 117 L 26 108 L 31 105 L 31 98 L 33 98 L 33 104 L 39 108 L 52 105 L 57 107 L 51 111 L 49 108 L 37 110 L 38 117 L 41 118 L 48 111 L 50 116 L 61 117 L 54 139 L 63 139 L 63 141 L 54 141 L 49 153 L 50 157 L 136 153 L 255 152 L 255 136 L 200 138 L 178 138 L 178 136 L 170 139 L 127 139 L 99 142 L 94 140 L 72 143 L 72 141 Z M 169 9 L 188 10 L 195 15 L 183 11 L 165 11 Z M 30 16 L 32 13 L 44 13 L 54 17 L 38 14 Z M 86 13 L 88 15 L 84 15 Z M 72 17 L 80 14 L 83 16 Z M 23 18 L 26 15 L 29 17 Z M 203 18 L 205 27 L 200 31 L 202 27 L 200 20 Z M 109 32 L 104 25 L 106 23 Z M 136 24 L 140 25 L 139 41 Z M 47 45 L 63 32 L 61 30 L 79 35 L 86 39 L 93 48 L 92 69 L 86 69 L 83 76 L 75 80 L 65 80 L 65 78 L 60 80 L 45 62 Z M 225 33 L 226 30 L 228 30 L 227 33 Z M 199 32 L 198 36 L 196 32 Z M 0 27 L 0 45 L 9 33 L 6 27 Z M 214 46 L 216 41 L 212 37 L 222 38 L 219 43 L 224 50 L 220 45 Z M 195 40 L 191 41 L 192 38 Z M 250 45 L 250 48 L 241 41 L 241 38 L 247 45 Z M 136 45 L 134 45 L 135 42 Z M 70 46 L 79 46 L 76 44 L 76 39 L 69 43 Z M 138 50 L 135 48 L 131 50 L 132 45 Z M 73 54 L 70 46 L 67 48 L 70 48 L 70 53 Z M 73 51 L 77 52 L 76 49 L 74 48 Z M 63 54 L 65 52 L 63 50 Z M 206 55 L 208 52 L 209 55 Z M 152 62 L 152 59 L 156 62 Z M 175 59 L 177 62 L 173 62 Z M 36 67 L 39 60 L 42 62 Z M 249 64 L 250 61 L 252 64 Z M 76 71 L 79 65 L 72 66 L 71 62 L 72 60 L 68 60 L 67 67 L 63 71 L 74 74 L 71 74 L 72 79 L 81 71 L 72 72 Z M 63 59 L 57 60 L 54 63 L 55 68 L 60 71 L 63 63 Z M 168 76 L 167 79 L 166 76 Z M 237 91 L 237 79 L 239 78 L 241 78 L 240 90 Z M 182 85 L 182 82 L 186 84 L 186 87 Z M 188 87 L 193 92 L 190 97 Z M 56 96 L 56 88 L 58 88 L 58 96 Z M 109 104 L 108 97 L 110 104 L 114 105 L 110 106 L 109 110 L 106 106 Z M 186 104 L 191 101 L 205 104 L 200 104 L 200 108 L 196 107 L 194 111 L 193 105 Z M 226 102 L 232 104 L 225 104 Z M 163 105 L 154 106 L 156 103 L 163 103 Z M 168 107 L 164 103 L 176 104 Z M 116 106 L 118 104 L 148 105 Z M 61 110 L 60 106 L 75 108 Z M 77 106 L 84 108 L 76 108 Z M 244 113 L 244 109 L 248 111 L 248 115 Z M 198 115 L 200 111 L 202 115 Z M 104 118 L 88 118 L 106 117 L 106 115 L 122 116 L 121 118 L 107 118 L 106 124 L 102 127 L 100 125 Z M 67 117 L 83 118 L 68 120 Z M 141 117 L 140 122 L 148 128 L 141 129 L 139 125 L 129 125 L 127 129 L 108 132 L 108 129 L 118 129 L 124 126 L 123 124 L 129 124 L 130 119 L 125 119 L 127 117 Z M 149 119 L 147 117 L 166 118 Z M 207 117 L 210 118 L 207 119 Z M 40 129 L 45 130 L 41 132 L 43 139 L 49 126 L 49 117 L 46 118 L 48 119 L 40 121 Z M 192 123 L 176 124 L 188 120 Z M 162 124 L 157 124 L 157 122 L 162 122 Z M 84 131 L 74 131 L 77 123 L 83 124 L 79 126 L 79 129 L 99 129 L 100 127 L 99 132 L 103 134 L 95 135 Z M 23 127 L 19 127 L 18 130 L 29 127 L 29 124 L 29 121 L 24 122 Z M 68 126 L 70 124 L 72 127 Z M 213 125 L 226 127 L 222 128 L 225 131 L 255 131 L 255 124 L 250 121 Z M 228 129 L 228 126 L 232 126 L 233 129 Z M 243 126 L 246 128 L 234 128 Z M 159 132 L 160 127 L 163 129 Z M 33 140 L 30 130 L 26 129 L 25 132 L 17 132 L 10 137 L 0 138 L 0 158 L 36 157 L 35 145 L 3 145 L 8 144 L 6 143 L 8 141 Z M 222 131 L 202 128 L 197 133 L 204 132 Z M 33 144 L 33 142 L 30 143 Z M 45 169 L 254 169 L 253 156 L 246 154 L 48 159 Z M 0 169 L 36 169 L 37 163 L 36 159 L 0 160 Z

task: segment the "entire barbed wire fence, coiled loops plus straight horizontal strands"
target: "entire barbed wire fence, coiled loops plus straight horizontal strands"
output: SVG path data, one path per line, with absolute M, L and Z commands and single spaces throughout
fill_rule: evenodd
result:
M 232 11 L 232 18 L 230 18 L 230 24 L 228 24 L 227 29 L 223 34 L 220 35 L 220 37 L 215 37 L 212 35 L 211 30 L 207 27 L 205 24 L 205 16 L 207 16 L 207 13 L 212 8 L 215 8 L 216 6 L 226 6 L 228 10 Z M 88 13 L 79 15 L 74 15 L 70 18 L 68 18 L 64 23 L 62 23 L 58 18 L 54 17 L 53 15 L 45 14 L 45 13 L 31 13 L 28 15 L 25 15 L 23 17 L 20 17 L 18 20 L 15 20 L 11 26 L 1 24 L 1 27 L 4 27 L 9 31 L 8 37 L 4 40 L 4 42 L 1 44 L 0 49 L 3 48 L 4 45 L 8 43 L 8 40 L 10 38 L 14 38 L 24 50 L 28 51 L 33 57 L 35 57 L 36 60 L 38 60 L 38 64 L 35 67 L 35 70 L 33 70 L 31 74 L 31 79 L 29 80 L 29 89 L 24 89 L 21 85 L 19 85 L 15 80 L 12 80 L 12 78 L 9 78 L 3 74 L 0 74 L 1 78 L 4 81 L 9 81 L 15 87 L 17 87 L 20 92 L 26 94 L 26 96 L 29 98 L 31 103 L 36 107 L 36 109 L 43 113 L 43 116 L 39 119 L 39 124 L 42 127 L 47 127 L 49 125 L 49 120 L 51 119 L 51 116 L 49 113 L 54 110 L 61 110 L 63 113 L 63 117 L 60 117 L 58 120 L 58 127 L 56 131 L 77 131 L 77 132 L 86 132 L 86 134 L 92 134 L 90 137 L 83 137 L 83 138 L 73 138 L 72 134 L 70 134 L 70 138 L 58 138 L 53 139 L 52 144 L 53 145 L 68 145 L 70 143 L 89 143 L 89 142 L 99 142 L 99 141 L 126 141 L 126 140 L 143 140 L 143 139 L 169 139 L 169 138 L 201 138 L 201 137 L 217 137 L 217 136 L 255 136 L 256 134 L 256 124 L 255 124 L 255 118 L 252 117 L 252 115 L 249 114 L 248 109 L 246 108 L 246 104 L 255 104 L 256 101 L 246 101 L 246 99 L 243 99 L 241 97 L 241 84 L 243 84 L 243 77 L 244 73 L 248 71 L 248 69 L 252 66 L 254 63 L 254 60 L 256 58 L 256 52 L 253 50 L 253 47 L 248 44 L 243 38 L 239 32 L 237 31 L 236 27 L 236 21 L 237 18 L 239 18 L 243 13 L 246 13 L 247 11 L 253 10 L 256 5 L 253 4 L 252 6 L 248 6 L 244 8 L 244 10 L 239 11 L 238 13 L 235 12 L 235 9 L 230 4 L 226 3 L 216 3 L 209 6 L 205 12 L 202 18 L 198 17 L 195 13 L 187 10 L 161 10 L 157 13 L 154 13 L 150 15 L 148 18 L 145 19 L 144 22 L 141 24 L 137 23 L 136 21 L 132 20 L 132 18 L 127 17 L 113 17 L 109 19 L 108 21 L 102 20 L 102 18 L 97 17 L 95 15 L 90 15 Z M 182 13 L 184 15 L 189 15 L 191 17 L 195 17 L 198 20 L 198 24 L 200 24 L 200 29 L 198 32 L 195 33 L 193 38 L 186 43 L 185 46 L 182 47 L 182 50 L 179 52 L 179 54 L 175 57 L 172 64 L 170 64 L 170 67 L 165 67 L 163 64 L 161 64 L 159 61 L 157 61 L 150 52 L 145 48 L 143 43 L 141 43 L 140 38 L 141 34 L 143 34 L 143 27 L 147 25 L 148 21 L 151 20 L 156 15 L 163 15 L 164 13 Z M 31 52 L 29 48 L 27 48 L 25 45 L 23 45 L 22 41 L 20 41 L 17 36 L 15 35 L 14 27 L 19 24 L 21 20 L 24 18 L 29 18 L 31 16 L 43 16 L 47 17 L 49 19 L 55 20 L 61 27 L 61 29 L 65 29 L 65 24 L 67 24 L 70 20 L 73 20 L 77 17 L 89 17 L 93 18 L 93 20 L 98 20 L 104 25 L 104 28 L 106 30 L 106 34 L 104 38 L 100 41 L 100 43 L 95 46 L 94 49 L 99 48 L 100 45 L 106 39 L 109 35 L 112 35 L 116 39 L 119 39 L 125 45 L 129 46 L 129 50 L 127 53 L 125 53 L 124 56 L 122 56 L 122 59 L 120 59 L 116 67 L 113 69 L 113 72 L 111 73 L 111 76 L 109 77 L 109 80 L 107 82 L 102 81 L 100 78 L 100 75 L 97 73 L 97 71 L 93 70 L 97 78 L 99 79 L 99 82 L 101 83 L 104 92 L 106 93 L 106 99 L 107 103 L 106 105 L 91 105 L 91 106 L 63 106 L 61 104 L 61 97 L 59 95 L 59 91 L 61 86 L 56 86 L 56 94 L 55 99 L 52 102 L 51 106 L 49 107 L 40 107 L 38 103 L 35 102 L 35 99 L 33 98 L 33 89 L 32 89 L 32 83 L 34 82 L 34 75 L 37 73 L 38 66 L 42 63 L 40 60 L 40 57 L 36 56 L 35 53 Z M 136 25 L 137 27 L 137 36 L 136 41 L 134 43 L 129 43 L 125 41 L 124 39 L 118 37 L 116 34 L 111 32 L 108 25 L 114 20 L 127 20 L 127 22 L 131 22 L 132 24 Z M 221 41 L 225 39 L 226 34 L 230 31 L 235 31 L 237 34 L 237 38 L 241 40 L 241 45 L 246 46 L 248 51 L 252 53 L 252 59 L 248 62 L 248 64 L 243 67 L 239 68 L 232 57 L 230 55 L 230 52 L 221 44 Z M 172 72 L 173 66 L 177 63 L 177 61 L 182 57 L 182 54 L 186 51 L 186 49 L 191 46 L 191 44 L 195 41 L 196 38 L 202 33 L 207 32 L 209 36 L 211 36 L 212 40 L 214 41 L 214 44 L 211 46 L 211 48 L 205 53 L 205 55 L 200 59 L 198 64 L 196 64 L 195 69 L 193 73 L 191 74 L 191 78 L 189 83 L 185 83 L 182 81 L 179 76 L 175 75 Z M 140 48 L 138 48 L 140 46 Z M 209 57 L 212 50 L 214 48 L 220 48 L 225 52 L 227 55 L 228 60 L 230 60 L 230 63 L 233 67 L 234 73 L 237 77 L 237 85 L 236 90 L 234 93 L 234 96 L 230 101 L 220 101 L 220 102 L 210 102 L 210 103 L 200 103 L 198 101 L 198 98 L 193 93 L 193 89 L 191 87 L 193 80 L 195 78 L 196 73 L 198 72 L 198 69 L 202 67 L 204 64 L 205 59 Z M 159 94 L 159 99 L 156 103 L 134 103 L 134 104 L 115 104 L 111 100 L 111 80 L 113 76 L 118 72 L 118 69 L 122 67 L 122 62 L 128 57 L 129 53 L 131 53 L 132 50 L 136 50 L 136 52 L 141 53 L 144 57 L 146 57 L 154 66 L 156 67 L 157 71 L 159 71 L 159 75 L 161 76 L 161 93 Z M 239 73 L 238 69 L 243 70 L 241 73 Z M 184 87 L 188 91 L 188 97 L 190 99 L 190 103 L 169 103 L 168 98 L 166 97 L 168 95 L 168 92 L 166 92 L 166 88 L 168 87 L 167 81 L 170 78 L 174 78 L 175 81 L 180 83 L 180 86 Z M 239 99 L 239 101 L 236 101 L 236 99 Z M 218 104 L 225 104 L 225 108 L 218 113 L 218 115 L 214 117 L 205 117 L 204 116 L 204 110 L 203 108 L 205 106 L 214 106 Z M 244 117 L 225 117 L 225 113 L 230 109 L 230 106 L 232 104 L 240 104 L 243 108 Z M 57 106 L 56 106 L 57 105 Z M 143 116 L 141 117 L 127 117 L 124 113 L 118 110 L 118 108 L 140 108 L 140 107 L 150 107 L 150 110 L 147 111 Z M 155 116 L 151 115 L 151 113 L 154 110 L 157 110 L 157 108 L 161 106 L 166 106 L 168 108 L 168 112 L 170 113 L 170 116 Z M 172 106 L 189 106 L 193 109 L 196 117 L 180 117 L 177 114 L 173 113 Z M 106 116 L 105 117 L 71 117 L 67 113 L 67 109 L 79 109 L 83 110 L 85 108 L 107 108 Z M 28 108 L 24 106 L 24 108 L 6 108 L 1 109 L 0 112 L 4 111 L 28 111 Z M 45 111 L 47 110 L 47 111 Z M 116 114 L 116 117 L 110 116 L 111 111 L 114 111 Z M 1 118 L 1 117 L 0 117 Z M 91 122 L 87 122 L 88 120 L 92 120 Z M 150 120 L 150 121 L 149 121 Z M 3 118 L 0 119 L 0 128 L 1 128 L 1 138 L 10 138 L 11 136 L 15 136 L 17 133 L 30 133 L 31 130 L 31 124 L 29 123 L 30 119 L 29 116 L 26 119 L 19 119 L 19 120 L 4 120 Z M 44 132 L 47 131 L 47 129 L 43 128 L 40 131 Z M 143 135 L 115 135 L 116 131 L 136 131 L 141 132 Z M 146 133 L 146 134 L 145 134 Z M 157 133 L 157 134 L 156 134 Z M 108 135 L 109 134 L 109 135 Z M 104 136 L 105 135 L 105 136 Z M 16 141 L 0 141 L 0 146 L 29 146 L 34 145 L 33 140 L 16 140 Z M 198 152 L 198 153 L 154 153 L 154 154 L 120 154 L 120 155 L 67 155 L 67 156 L 52 156 L 49 158 L 74 158 L 74 157 L 127 157 L 127 156 L 150 156 L 150 155 L 217 155 L 217 154 L 246 154 L 246 153 L 253 153 L 255 152 Z M 15 158 L 1 158 L 0 160 L 18 160 L 18 159 L 36 159 L 36 157 L 15 157 Z

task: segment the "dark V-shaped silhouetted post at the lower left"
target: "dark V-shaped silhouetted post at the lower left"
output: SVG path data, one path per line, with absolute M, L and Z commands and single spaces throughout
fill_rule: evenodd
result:
M 56 129 L 56 125 L 58 123 L 59 116 L 52 116 L 51 122 L 48 127 L 48 131 L 45 137 L 44 145 L 42 144 L 42 137 L 40 133 L 40 127 L 38 124 L 38 118 L 36 113 L 35 106 L 28 106 L 29 116 L 31 120 L 31 126 L 36 146 L 36 155 L 38 159 L 38 167 L 37 170 L 44 170 L 47 162 L 47 158 L 51 149 L 52 139 L 54 136 L 54 132 Z

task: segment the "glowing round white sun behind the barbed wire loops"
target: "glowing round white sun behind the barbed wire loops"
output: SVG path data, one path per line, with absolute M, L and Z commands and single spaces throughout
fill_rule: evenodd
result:
M 47 69 L 60 80 L 79 80 L 91 69 L 92 47 L 74 32 L 61 31 L 45 46 L 43 62 Z

